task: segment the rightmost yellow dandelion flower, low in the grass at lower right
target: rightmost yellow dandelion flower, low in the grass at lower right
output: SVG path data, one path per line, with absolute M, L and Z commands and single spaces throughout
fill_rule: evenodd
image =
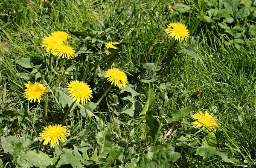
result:
M 204 113 L 200 111 L 200 113 L 195 113 L 192 117 L 198 120 L 192 122 L 195 127 L 207 127 L 207 130 L 209 131 L 215 130 L 215 127 L 220 127 L 217 119 L 213 118 L 212 114 L 209 114 L 208 111 L 205 111 Z

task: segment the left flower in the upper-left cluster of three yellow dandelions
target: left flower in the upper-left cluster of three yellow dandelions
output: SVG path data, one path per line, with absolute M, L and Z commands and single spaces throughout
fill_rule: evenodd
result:
M 56 38 L 55 36 L 49 36 L 47 38 L 44 38 L 42 42 L 42 47 L 45 47 L 45 50 L 47 52 L 52 51 L 56 46 L 63 44 L 63 41 L 59 38 Z

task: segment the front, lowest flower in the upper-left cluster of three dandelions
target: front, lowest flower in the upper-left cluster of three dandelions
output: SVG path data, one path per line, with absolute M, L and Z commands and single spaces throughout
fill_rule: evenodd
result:
M 73 47 L 67 44 L 55 46 L 55 48 L 52 50 L 52 55 L 55 55 L 58 58 L 67 58 L 68 60 L 71 58 L 75 58 L 76 56 Z

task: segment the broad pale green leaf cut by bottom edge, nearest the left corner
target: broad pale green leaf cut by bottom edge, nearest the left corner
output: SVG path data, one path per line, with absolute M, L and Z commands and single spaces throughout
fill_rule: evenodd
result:
M 33 150 L 18 157 L 16 168 L 47 168 L 50 165 L 54 165 L 53 158 L 41 151 L 37 153 L 36 150 Z

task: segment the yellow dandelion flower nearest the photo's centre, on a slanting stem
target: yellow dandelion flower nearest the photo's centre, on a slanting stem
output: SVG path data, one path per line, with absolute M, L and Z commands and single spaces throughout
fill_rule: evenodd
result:
M 119 89 L 126 87 L 128 84 L 125 72 L 117 68 L 108 69 L 107 72 L 105 72 L 104 78 L 107 78 L 107 81 L 111 82 L 111 84 L 118 86 Z

